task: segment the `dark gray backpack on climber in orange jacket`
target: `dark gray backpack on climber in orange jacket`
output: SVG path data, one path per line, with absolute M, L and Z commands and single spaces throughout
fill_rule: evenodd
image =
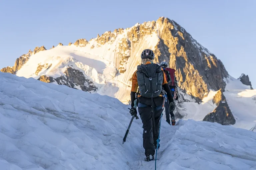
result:
M 158 64 L 137 66 L 137 80 L 140 95 L 145 98 L 154 98 L 161 94 L 163 73 Z

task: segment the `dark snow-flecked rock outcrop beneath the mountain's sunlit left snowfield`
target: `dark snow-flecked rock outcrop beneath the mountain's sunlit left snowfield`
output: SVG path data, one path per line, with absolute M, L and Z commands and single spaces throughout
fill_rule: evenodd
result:
M 74 89 L 80 87 L 81 90 L 86 92 L 95 92 L 97 90 L 97 87 L 93 84 L 93 82 L 86 79 L 81 71 L 71 67 L 66 69 L 65 76 L 55 78 L 55 81 L 59 85 L 66 85 Z

